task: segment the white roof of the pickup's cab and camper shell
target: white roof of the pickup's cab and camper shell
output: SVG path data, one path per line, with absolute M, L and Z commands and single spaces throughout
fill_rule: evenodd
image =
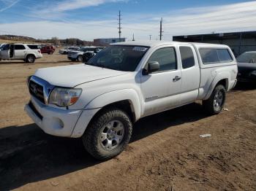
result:
M 175 42 L 175 41 L 129 41 L 129 42 L 117 42 L 111 45 L 132 45 L 132 46 L 145 46 L 145 47 L 158 47 L 161 45 L 176 45 L 183 44 L 189 45 L 194 44 L 195 47 L 227 47 L 224 44 L 207 44 L 207 43 L 195 43 L 195 42 Z

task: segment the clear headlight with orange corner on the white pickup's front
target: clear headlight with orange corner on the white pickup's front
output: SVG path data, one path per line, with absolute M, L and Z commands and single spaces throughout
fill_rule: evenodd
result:
M 56 106 L 71 106 L 78 101 L 82 89 L 55 87 L 50 93 L 49 104 Z

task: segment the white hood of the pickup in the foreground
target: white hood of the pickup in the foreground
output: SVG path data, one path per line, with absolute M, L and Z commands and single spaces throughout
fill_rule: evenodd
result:
M 127 71 L 103 69 L 82 63 L 73 66 L 57 66 L 38 69 L 34 76 L 45 79 L 45 81 L 49 82 L 51 85 L 75 87 L 86 82 L 121 76 L 127 73 Z

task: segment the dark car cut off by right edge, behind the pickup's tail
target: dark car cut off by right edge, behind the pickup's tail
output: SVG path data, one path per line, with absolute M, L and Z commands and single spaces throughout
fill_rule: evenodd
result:
M 256 82 L 256 51 L 244 52 L 237 58 L 238 81 Z

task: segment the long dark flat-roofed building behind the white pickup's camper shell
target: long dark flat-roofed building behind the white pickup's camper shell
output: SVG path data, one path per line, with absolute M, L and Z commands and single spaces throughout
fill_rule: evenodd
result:
M 227 44 L 238 56 L 243 52 L 256 50 L 256 31 L 173 36 L 173 41 Z

